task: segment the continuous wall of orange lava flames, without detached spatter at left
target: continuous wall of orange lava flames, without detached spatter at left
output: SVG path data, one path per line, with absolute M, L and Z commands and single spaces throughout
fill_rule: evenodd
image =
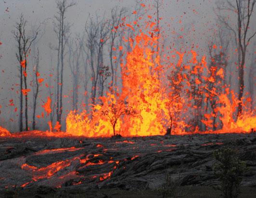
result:
M 148 27 L 154 29 L 155 24 L 149 24 Z M 222 85 L 225 75 L 222 67 L 209 67 L 206 56 L 199 60 L 195 50 L 185 53 L 174 50 L 171 53 L 177 62 L 170 61 L 170 57 L 164 62 L 158 50 L 152 50 L 159 39 L 151 31 L 148 34 L 140 31 L 134 39 L 128 39 L 131 51 L 126 54 L 126 64 L 121 64 L 121 90 L 100 97 L 99 103 L 92 107 L 92 114 L 71 111 L 66 120 L 67 133 L 87 137 L 109 137 L 116 133 L 122 136 L 163 135 L 170 126 L 172 134 L 211 133 L 211 129 L 220 128 L 215 123 L 217 116 L 223 126 L 214 131 L 216 133 L 250 132 L 256 128 L 255 112 L 244 108 L 244 114 L 235 120 L 239 101 L 234 92 L 217 90 L 227 87 Z M 184 62 L 185 58 L 190 60 Z M 171 73 L 167 79 L 168 71 Z M 200 120 L 203 100 L 210 101 L 213 109 Z M 206 131 L 200 131 L 194 123 L 189 124 L 192 116 L 198 119 L 195 123 L 205 125 Z

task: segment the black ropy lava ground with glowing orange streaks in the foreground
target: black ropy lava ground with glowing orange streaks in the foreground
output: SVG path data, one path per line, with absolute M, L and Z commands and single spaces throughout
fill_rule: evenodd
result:
M 1 137 L 0 197 L 57 197 L 63 192 L 67 197 L 115 197 L 119 191 L 154 192 L 165 183 L 166 175 L 180 186 L 207 189 L 218 184 L 213 151 L 223 146 L 235 149 L 246 162 L 249 171 L 242 185 L 255 189 L 256 133 Z

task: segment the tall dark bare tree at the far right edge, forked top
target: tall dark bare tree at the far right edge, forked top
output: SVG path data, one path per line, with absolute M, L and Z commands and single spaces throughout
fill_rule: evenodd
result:
M 250 44 L 250 40 L 256 35 L 256 31 L 249 35 L 249 29 L 251 25 L 251 16 L 254 11 L 256 0 L 225 0 L 218 2 L 217 9 L 220 12 L 218 18 L 226 28 L 233 32 L 235 36 L 235 42 L 238 46 L 238 75 L 239 75 L 239 92 L 238 92 L 238 112 L 236 119 L 242 114 L 242 97 L 244 91 L 244 65 L 246 60 L 246 50 Z M 229 17 L 225 16 L 221 12 L 230 11 L 236 14 L 236 26 L 232 26 Z

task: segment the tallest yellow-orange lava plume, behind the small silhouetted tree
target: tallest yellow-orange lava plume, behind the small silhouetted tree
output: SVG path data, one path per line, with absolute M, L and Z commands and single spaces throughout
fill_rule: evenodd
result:
M 116 119 L 115 129 L 123 136 L 164 134 L 166 122 L 162 118 L 168 117 L 168 110 L 165 89 L 158 77 L 161 68 L 159 56 L 152 52 L 156 44 L 156 37 L 144 33 L 136 36 L 135 46 L 127 53 L 127 64 L 121 66 L 121 92 L 108 92 L 101 97 L 101 105 L 94 106 L 93 119 L 86 112 L 77 114 L 71 111 L 66 120 L 67 133 L 88 137 L 111 136 L 113 120 Z M 120 117 L 115 114 L 122 111 L 124 113 Z

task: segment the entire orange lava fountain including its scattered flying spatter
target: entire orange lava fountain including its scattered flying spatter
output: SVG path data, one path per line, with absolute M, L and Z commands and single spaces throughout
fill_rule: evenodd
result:
M 125 17 L 122 21 L 125 21 Z M 144 25 L 135 21 L 114 26 L 113 31 L 119 31 L 122 27 L 134 33 L 128 35 L 128 38 L 123 36 L 123 46 L 113 47 L 114 51 L 119 49 L 122 54 L 119 65 L 120 86 L 109 87 L 108 91 L 102 93 L 103 96 L 95 99 L 95 103 L 89 104 L 89 110 L 69 111 L 66 132 L 61 132 L 58 121 L 55 127 L 49 121 L 50 132 L 40 134 L 34 131 L 15 136 L 110 137 L 120 134 L 129 137 L 164 135 L 168 131 L 183 135 L 256 130 L 255 109 L 246 108 L 246 101 L 251 99 L 244 97 L 239 101 L 234 91 L 225 84 L 226 68 L 222 62 L 226 60 L 218 60 L 223 58 L 222 52 L 220 57 L 209 58 L 199 54 L 198 46 L 194 48 L 194 45 L 179 50 L 175 45 L 170 46 L 170 49 L 163 49 L 160 46 L 164 35 L 156 34 L 160 29 L 152 16 L 148 15 L 144 22 Z M 135 31 L 135 26 L 140 29 Z M 105 38 L 101 42 L 106 42 Z M 127 52 L 124 45 L 130 47 Z M 216 51 L 222 49 L 216 44 L 212 48 Z M 116 61 L 117 56 L 113 56 L 113 59 Z M 26 61 L 23 60 L 20 65 L 25 67 Z M 38 79 L 39 83 L 43 81 L 42 78 Z M 22 90 L 24 95 L 28 92 L 30 89 Z M 13 99 L 9 102 L 8 106 L 14 106 Z M 51 103 L 52 99 L 48 97 L 42 105 L 47 116 L 52 113 Z M 237 108 L 241 103 L 243 114 L 236 118 Z M 17 108 L 14 109 L 16 111 Z M 42 112 L 37 118 L 43 118 L 43 115 Z M 0 128 L 0 136 L 9 135 L 10 132 Z M 134 144 L 132 141 L 116 143 Z

